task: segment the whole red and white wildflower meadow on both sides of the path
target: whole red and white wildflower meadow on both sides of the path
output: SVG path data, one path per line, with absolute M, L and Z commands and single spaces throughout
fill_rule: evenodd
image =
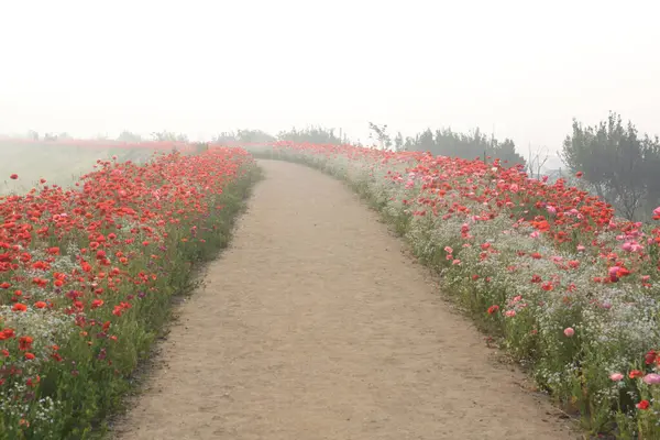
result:
M 0 440 L 103 431 L 173 296 L 228 243 L 253 157 L 345 180 L 587 431 L 660 438 L 658 224 L 497 160 L 274 142 L 98 161 L 0 198 Z

